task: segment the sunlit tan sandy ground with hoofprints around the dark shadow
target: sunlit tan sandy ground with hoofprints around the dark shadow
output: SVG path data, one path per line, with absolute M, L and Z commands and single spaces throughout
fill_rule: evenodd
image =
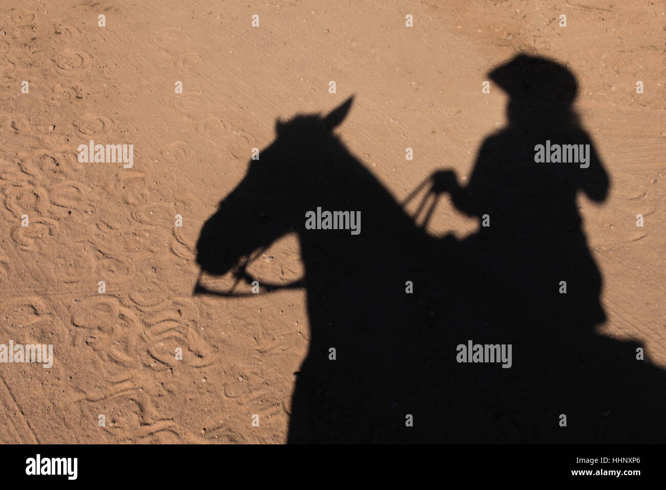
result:
M 605 281 L 600 332 L 666 367 L 664 4 L 581 1 L 2 1 L 0 343 L 53 344 L 55 363 L 0 365 L 0 441 L 283 443 L 304 291 L 192 297 L 202 223 L 278 117 L 350 95 L 338 133 L 396 200 L 436 169 L 468 175 L 506 120 L 507 96 L 482 82 L 519 51 L 575 73 L 611 177 L 603 205 L 579 198 Z M 133 168 L 79 163 L 91 139 L 133 144 Z M 464 237 L 478 223 L 445 199 L 430 227 Z M 298 279 L 296 239 L 252 271 Z

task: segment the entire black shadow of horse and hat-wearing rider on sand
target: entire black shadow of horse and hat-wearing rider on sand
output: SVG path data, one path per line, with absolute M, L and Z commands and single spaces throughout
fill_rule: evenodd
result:
M 310 344 L 289 443 L 666 437 L 664 371 L 637 359 L 641 344 L 596 333 L 602 279 L 576 199 L 602 203 L 609 177 L 573 111 L 575 77 L 528 55 L 489 76 L 510 97 L 507 126 L 484 141 L 467 185 L 446 169 L 427 181 L 429 199 L 446 195 L 486 221 L 477 233 L 434 237 L 415 224 L 334 134 L 352 99 L 277 121 L 275 141 L 206 221 L 202 272 L 248 282 L 244 257 L 298 235 L 305 275 L 294 287 L 306 288 Z M 589 145 L 589 166 L 536 163 L 547 140 Z M 318 207 L 360 211 L 360 233 L 306 229 Z M 195 294 L 228 296 L 202 285 Z M 511 367 L 458 362 L 470 340 L 510 344 Z

